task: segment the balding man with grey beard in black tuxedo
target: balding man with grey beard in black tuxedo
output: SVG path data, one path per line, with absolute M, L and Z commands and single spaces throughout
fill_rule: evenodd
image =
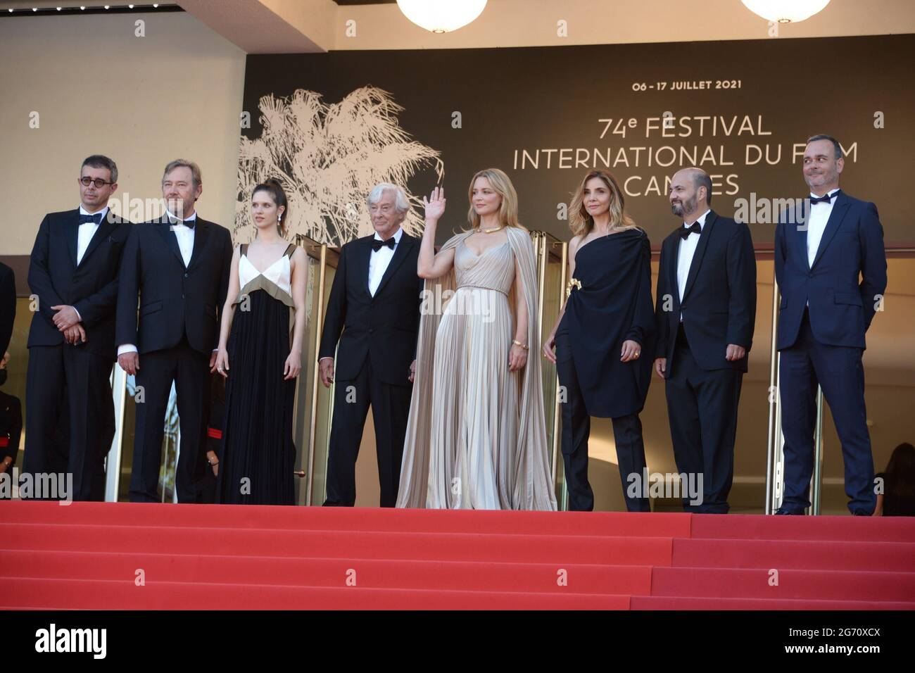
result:
M 654 368 L 665 379 L 677 470 L 703 479 L 701 502 L 684 497 L 684 509 L 727 514 L 756 256 L 748 226 L 711 210 L 712 179 L 701 168 L 674 174 L 670 200 L 682 223 L 661 245 Z

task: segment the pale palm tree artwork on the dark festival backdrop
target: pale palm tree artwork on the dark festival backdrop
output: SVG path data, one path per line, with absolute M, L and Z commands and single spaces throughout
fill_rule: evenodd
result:
M 279 180 L 289 201 L 290 236 L 305 234 L 342 245 L 372 233 L 366 197 L 379 182 L 406 190 L 411 208 L 404 230 L 423 229 L 422 198 L 407 188 L 418 171 L 432 168 L 441 183 L 440 152 L 412 139 L 397 120 L 404 107 L 389 92 L 365 86 L 339 103 L 298 89 L 288 97 L 265 95 L 258 104 L 261 137 L 242 136 L 234 237 L 252 228 L 251 191 L 264 179 Z

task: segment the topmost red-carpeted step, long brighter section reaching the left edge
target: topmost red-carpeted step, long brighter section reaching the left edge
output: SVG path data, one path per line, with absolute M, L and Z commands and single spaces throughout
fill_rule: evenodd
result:
M 531 533 L 615 537 L 690 537 L 687 514 L 522 512 L 381 507 L 163 505 L 141 503 L 3 503 L 4 520 L 98 526 L 199 526 L 286 530 Z

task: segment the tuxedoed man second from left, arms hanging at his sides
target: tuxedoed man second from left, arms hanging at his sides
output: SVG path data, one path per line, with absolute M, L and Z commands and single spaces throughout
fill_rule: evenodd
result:
M 215 371 L 220 312 L 231 270 L 231 234 L 199 217 L 203 185 L 197 164 L 176 159 L 162 176 L 167 214 L 135 226 L 124 247 L 117 303 L 118 363 L 136 375 L 133 502 L 158 502 L 162 436 L 172 382 L 178 393 L 181 444 L 178 502 L 199 502 L 205 461 L 209 374 Z M 137 295 L 139 294 L 139 317 Z M 139 324 L 138 324 L 139 323 Z

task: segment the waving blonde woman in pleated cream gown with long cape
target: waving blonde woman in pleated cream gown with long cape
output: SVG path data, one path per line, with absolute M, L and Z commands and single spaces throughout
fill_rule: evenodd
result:
M 425 290 L 397 506 L 554 510 L 533 244 L 500 169 L 479 171 L 468 196 L 470 229 L 437 255 L 445 193 L 424 199 Z

